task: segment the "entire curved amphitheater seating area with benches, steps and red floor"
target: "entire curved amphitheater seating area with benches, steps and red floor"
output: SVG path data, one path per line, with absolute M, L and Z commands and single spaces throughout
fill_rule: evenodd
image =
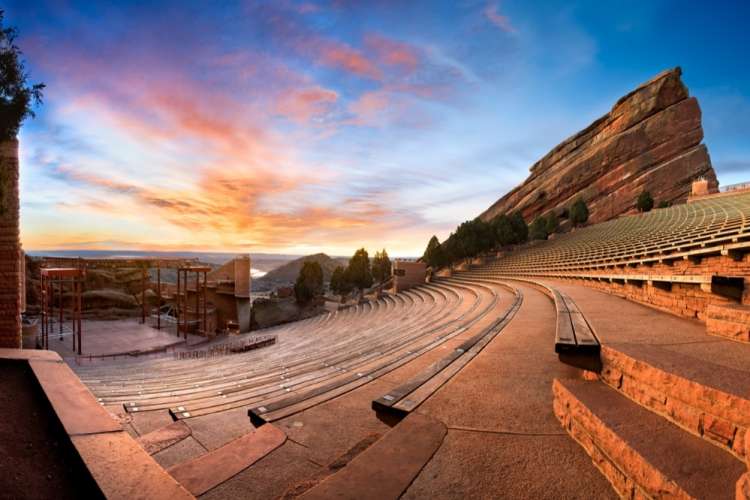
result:
M 434 276 L 180 356 L 0 349 L 11 415 L 72 445 L 59 497 L 750 499 L 750 189 Z

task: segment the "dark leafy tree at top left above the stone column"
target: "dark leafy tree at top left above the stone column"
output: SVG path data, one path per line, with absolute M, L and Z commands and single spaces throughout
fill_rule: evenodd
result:
M 23 121 L 34 117 L 31 106 L 42 103 L 45 87 L 43 83 L 27 84 L 21 49 L 15 43 L 18 30 L 4 28 L 4 17 L 0 10 L 0 141 L 15 138 Z

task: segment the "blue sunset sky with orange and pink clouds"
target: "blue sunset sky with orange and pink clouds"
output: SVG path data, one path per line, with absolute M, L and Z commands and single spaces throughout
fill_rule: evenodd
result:
M 681 66 L 750 180 L 750 2 L 12 0 L 28 250 L 421 255 Z

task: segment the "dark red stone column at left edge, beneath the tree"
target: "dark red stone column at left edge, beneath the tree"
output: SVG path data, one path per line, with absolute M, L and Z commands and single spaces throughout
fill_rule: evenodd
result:
M 0 347 L 21 347 L 18 140 L 0 142 Z

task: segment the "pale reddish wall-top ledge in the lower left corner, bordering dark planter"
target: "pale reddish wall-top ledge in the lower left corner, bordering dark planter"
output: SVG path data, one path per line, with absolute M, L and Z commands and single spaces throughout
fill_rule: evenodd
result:
M 29 363 L 73 446 L 107 498 L 193 498 L 97 403 L 57 353 L 0 349 L 0 359 Z

